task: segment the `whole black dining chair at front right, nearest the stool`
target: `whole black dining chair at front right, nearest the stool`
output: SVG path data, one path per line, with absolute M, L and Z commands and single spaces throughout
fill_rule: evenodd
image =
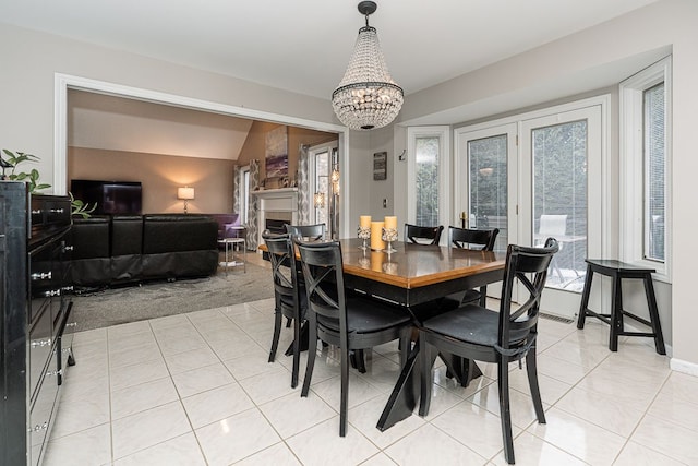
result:
M 466 358 L 472 365 L 474 365 L 472 362 L 474 360 L 495 362 L 497 365 L 504 456 L 509 464 L 514 464 L 514 440 L 509 411 L 509 362 L 519 361 L 520 363 L 521 359 L 526 359 L 526 371 L 535 416 L 539 423 L 545 423 L 545 414 L 538 385 L 535 337 L 538 336 L 538 315 L 541 295 L 547 278 L 547 267 L 558 249 L 554 238 L 549 238 L 543 248 L 509 244 L 498 312 L 477 304 L 467 304 L 428 319 L 422 322 L 419 328 L 422 367 L 420 416 L 429 414 L 432 368 L 440 351 Z M 529 278 L 527 274 L 533 274 L 532 278 Z M 512 291 L 516 280 L 526 287 L 529 298 L 522 306 L 513 310 Z M 468 373 L 468 377 L 471 375 L 472 370 Z

